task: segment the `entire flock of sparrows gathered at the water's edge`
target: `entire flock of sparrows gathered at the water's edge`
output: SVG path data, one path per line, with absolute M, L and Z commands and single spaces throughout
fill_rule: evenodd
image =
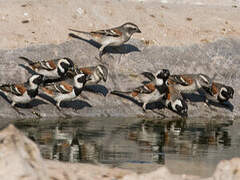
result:
M 125 23 L 121 26 L 84 32 L 83 33 L 101 44 L 99 58 L 102 60 L 104 49 L 107 46 L 120 46 L 127 42 L 134 33 L 141 33 L 137 25 Z M 96 85 L 101 81 L 106 82 L 109 69 L 99 64 L 90 67 L 78 67 L 70 58 L 63 57 L 51 60 L 34 61 L 26 57 L 24 60 L 34 74 L 24 83 L 2 84 L 0 92 L 11 101 L 11 106 L 18 112 L 16 104 L 28 104 L 40 93 L 50 97 L 59 111 L 62 110 L 61 102 L 72 100 L 84 90 L 85 86 Z M 113 90 L 112 95 L 130 97 L 142 104 L 146 112 L 149 103 L 159 102 L 177 114 L 188 116 L 188 99 L 186 94 L 195 92 L 204 96 L 204 102 L 210 107 L 211 102 L 225 103 L 233 98 L 234 89 L 225 84 L 214 81 L 206 74 L 170 74 L 168 69 L 158 72 L 142 72 L 147 81 L 136 88 L 126 90 Z

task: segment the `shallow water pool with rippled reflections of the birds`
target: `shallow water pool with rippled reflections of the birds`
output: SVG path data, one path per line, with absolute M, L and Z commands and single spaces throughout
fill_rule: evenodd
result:
M 207 177 L 220 160 L 240 156 L 237 120 L 76 118 L 14 124 L 39 145 L 46 159 L 137 172 L 167 165 L 173 173 Z

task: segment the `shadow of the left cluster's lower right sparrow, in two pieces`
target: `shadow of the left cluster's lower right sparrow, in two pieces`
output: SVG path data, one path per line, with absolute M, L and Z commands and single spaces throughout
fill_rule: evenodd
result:
M 38 96 L 49 101 L 51 104 L 56 105 L 56 101 L 53 98 L 51 98 L 50 96 L 43 94 L 43 93 L 40 93 Z M 78 100 L 78 99 L 73 100 L 73 101 L 62 101 L 61 102 L 61 108 L 72 108 L 74 110 L 80 110 L 80 109 L 83 109 L 84 107 L 92 107 L 92 105 L 86 101 L 82 101 L 82 100 Z

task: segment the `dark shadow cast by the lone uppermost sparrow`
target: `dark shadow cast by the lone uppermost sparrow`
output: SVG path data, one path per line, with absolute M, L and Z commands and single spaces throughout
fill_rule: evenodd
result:
M 91 44 L 92 46 L 96 47 L 96 48 L 100 48 L 101 47 L 101 44 L 99 44 L 98 42 L 94 41 L 94 40 L 88 40 L 88 39 L 84 39 L 74 33 L 69 33 L 68 34 L 70 37 L 72 38 L 75 38 L 75 39 L 79 39 L 79 40 L 82 40 L 84 42 L 87 42 L 89 44 Z M 140 52 L 140 50 L 134 46 L 134 45 L 131 45 L 131 44 L 123 44 L 121 46 L 118 46 L 118 47 L 113 47 L 113 46 L 109 46 L 109 47 L 106 47 L 104 49 L 104 53 L 112 53 L 112 54 L 128 54 L 130 52 Z

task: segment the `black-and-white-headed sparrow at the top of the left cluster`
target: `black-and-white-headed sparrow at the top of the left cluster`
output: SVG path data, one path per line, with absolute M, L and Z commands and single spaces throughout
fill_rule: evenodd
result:
M 23 59 L 31 67 L 33 71 L 51 78 L 62 78 L 68 72 L 73 70 L 74 63 L 69 58 L 58 58 L 51 60 L 32 61 L 26 57 L 19 57 Z

